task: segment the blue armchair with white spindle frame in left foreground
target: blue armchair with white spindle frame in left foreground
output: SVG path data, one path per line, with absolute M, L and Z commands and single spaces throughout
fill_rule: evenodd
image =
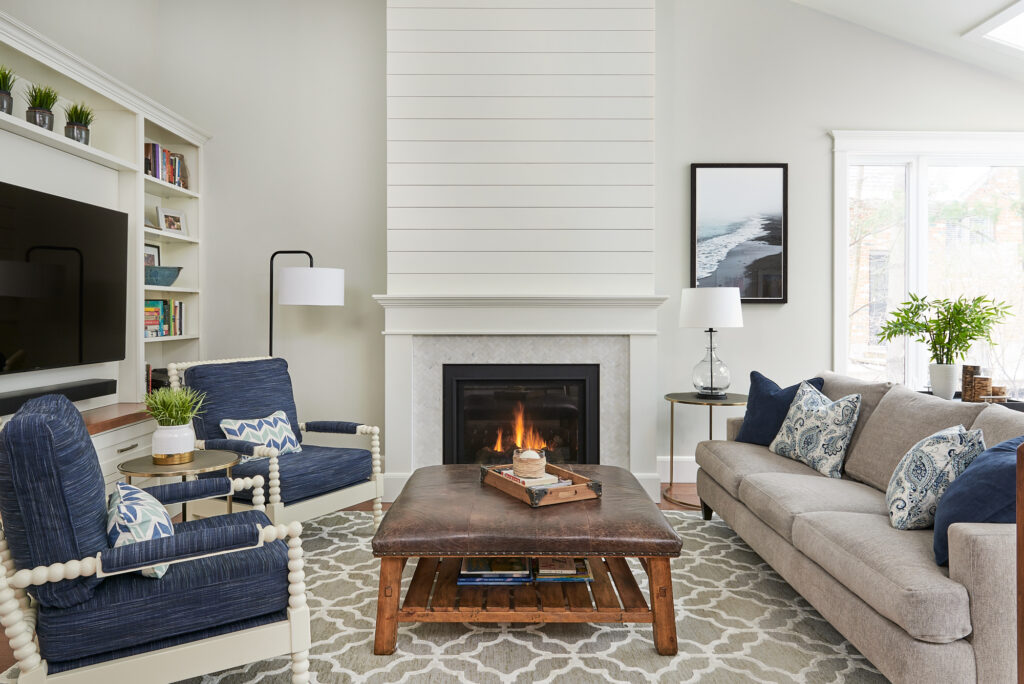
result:
M 219 477 L 148 491 L 166 504 L 252 487 L 258 501 L 262 484 Z M 0 624 L 23 684 L 57 673 L 61 682 L 170 682 L 285 653 L 292 681 L 308 681 L 298 522 L 274 526 L 250 510 L 110 548 L 95 448 L 81 414 L 56 395 L 29 401 L 0 432 Z M 136 572 L 162 564 L 159 580 Z

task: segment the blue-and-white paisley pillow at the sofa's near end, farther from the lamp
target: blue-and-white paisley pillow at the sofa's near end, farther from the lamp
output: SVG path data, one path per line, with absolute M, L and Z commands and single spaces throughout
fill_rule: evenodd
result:
M 981 430 L 963 425 L 925 437 L 903 455 L 886 487 L 889 521 L 896 529 L 935 524 L 935 507 L 949 484 L 985 451 Z

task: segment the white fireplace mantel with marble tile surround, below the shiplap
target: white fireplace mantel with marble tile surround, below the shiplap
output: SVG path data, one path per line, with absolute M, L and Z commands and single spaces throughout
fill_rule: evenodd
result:
M 660 296 L 379 295 L 385 309 L 384 497 L 443 460 L 445 365 L 596 365 L 603 464 L 656 499 Z

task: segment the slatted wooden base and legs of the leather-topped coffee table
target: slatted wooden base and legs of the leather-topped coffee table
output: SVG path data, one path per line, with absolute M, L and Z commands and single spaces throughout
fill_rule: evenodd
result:
M 674 655 L 676 611 L 669 558 L 640 558 L 647 571 L 650 606 L 625 558 L 589 558 L 590 583 L 516 587 L 459 587 L 462 558 L 420 558 L 399 608 L 407 557 L 381 558 L 374 653 L 390 655 L 398 623 L 653 623 L 654 647 Z

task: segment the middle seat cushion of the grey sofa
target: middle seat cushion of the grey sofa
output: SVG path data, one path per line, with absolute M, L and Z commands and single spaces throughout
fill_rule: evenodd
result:
M 874 487 L 822 475 L 748 475 L 739 483 L 739 500 L 788 542 L 793 542 L 793 522 L 802 513 L 886 512 L 886 499 Z

